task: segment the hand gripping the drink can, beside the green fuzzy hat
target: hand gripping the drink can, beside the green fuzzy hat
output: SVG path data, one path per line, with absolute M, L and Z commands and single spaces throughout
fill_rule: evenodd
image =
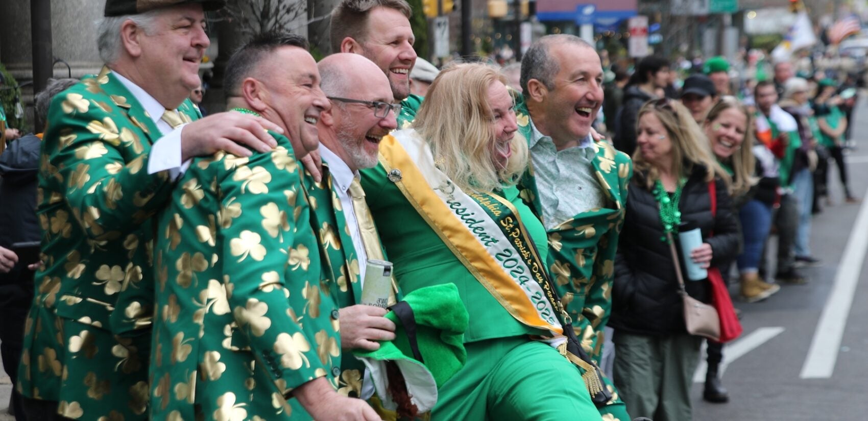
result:
M 340 309 L 340 347 L 377 351 L 378 340 L 395 339 L 395 324 L 385 308 L 357 304 Z

